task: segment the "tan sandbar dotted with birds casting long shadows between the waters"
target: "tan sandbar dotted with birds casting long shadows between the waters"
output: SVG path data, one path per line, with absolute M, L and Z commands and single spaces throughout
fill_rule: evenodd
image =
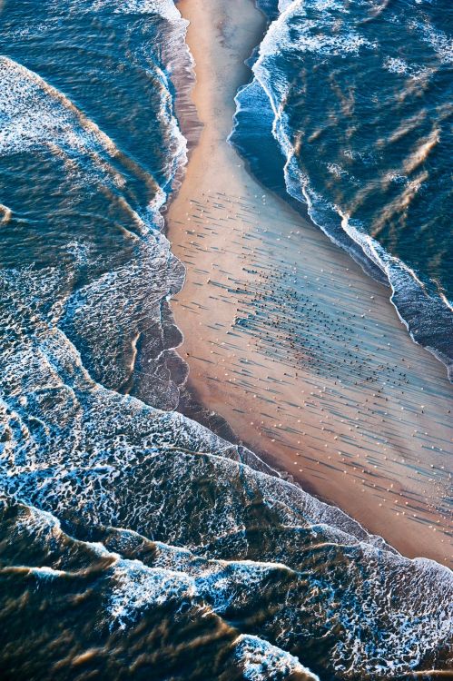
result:
M 304 489 L 410 558 L 451 565 L 452 386 L 370 279 L 226 142 L 264 20 L 182 0 L 204 128 L 167 213 L 189 388 Z

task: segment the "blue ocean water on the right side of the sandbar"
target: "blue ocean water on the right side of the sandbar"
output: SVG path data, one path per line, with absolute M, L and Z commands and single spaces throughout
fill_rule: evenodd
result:
M 391 286 L 412 338 L 451 378 L 451 3 L 258 5 L 273 21 L 238 94 L 232 143 Z

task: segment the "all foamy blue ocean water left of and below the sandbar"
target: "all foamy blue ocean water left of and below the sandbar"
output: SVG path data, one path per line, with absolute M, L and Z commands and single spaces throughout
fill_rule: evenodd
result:
M 172 410 L 184 272 L 162 208 L 192 67 L 172 2 L 1 19 L 0 678 L 448 669 L 448 568 Z

